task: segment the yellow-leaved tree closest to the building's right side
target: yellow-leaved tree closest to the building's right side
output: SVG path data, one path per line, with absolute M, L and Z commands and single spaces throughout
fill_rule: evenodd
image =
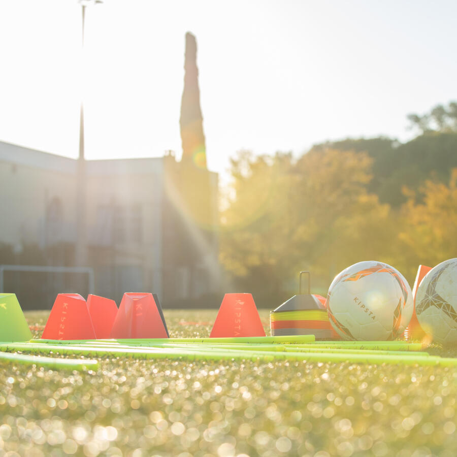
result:
M 278 296 L 290 266 L 293 201 L 291 154 L 255 157 L 241 151 L 232 159 L 232 197 L 221 214 L 221 263 L 236 284 Z

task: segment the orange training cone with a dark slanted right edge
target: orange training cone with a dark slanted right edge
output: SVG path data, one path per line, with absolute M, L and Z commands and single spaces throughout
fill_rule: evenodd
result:
M 124 293 L 110 337 L 168 338 L 152 293 Z

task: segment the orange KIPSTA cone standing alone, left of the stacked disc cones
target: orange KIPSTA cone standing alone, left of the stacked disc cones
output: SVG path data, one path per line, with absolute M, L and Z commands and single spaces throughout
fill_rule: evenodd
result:
M 250 293 L 226 293 L 210 338 L 266 336 Z

